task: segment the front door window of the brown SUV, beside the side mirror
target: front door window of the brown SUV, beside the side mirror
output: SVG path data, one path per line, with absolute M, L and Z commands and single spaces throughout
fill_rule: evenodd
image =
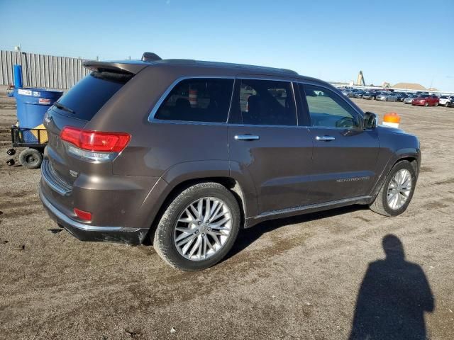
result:
M 353 108 L 333 91 L 314 85 L 299 86 L 301 96 L 306 94 L 312 126 L 345 129 L 360 126 Z

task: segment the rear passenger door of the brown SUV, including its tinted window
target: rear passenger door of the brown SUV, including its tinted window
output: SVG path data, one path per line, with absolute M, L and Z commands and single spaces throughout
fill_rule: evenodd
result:
M 298 126 L 291 81 L 238 77 L 228 145 L 231 169 L 253 181 L 259 215 L 307 203 L 313 142 Z

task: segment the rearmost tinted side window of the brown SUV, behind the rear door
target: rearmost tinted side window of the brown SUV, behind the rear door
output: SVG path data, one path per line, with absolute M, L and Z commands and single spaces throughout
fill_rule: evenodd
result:
M 226 123 L 233 79 L 185 79 L 162 102 L 156 119 Z

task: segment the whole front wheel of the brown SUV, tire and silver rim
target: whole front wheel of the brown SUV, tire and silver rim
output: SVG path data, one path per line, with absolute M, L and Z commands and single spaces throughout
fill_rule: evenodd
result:
M 416 171 L 408 161 L 394 165 L 370 210 L 384 216 L 402 214 L 409 206 L 416 186 Z

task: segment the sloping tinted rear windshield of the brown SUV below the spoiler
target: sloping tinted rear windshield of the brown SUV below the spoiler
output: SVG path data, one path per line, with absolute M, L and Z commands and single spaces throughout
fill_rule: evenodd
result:
M 92 72 L 62 96 L 58 103 L 70 110 L 55 108 L 59 113 L 82 120 L 93 116 L 133 77 L 132 74 Z M 71 112 L 72 111 L 72 112 Z

